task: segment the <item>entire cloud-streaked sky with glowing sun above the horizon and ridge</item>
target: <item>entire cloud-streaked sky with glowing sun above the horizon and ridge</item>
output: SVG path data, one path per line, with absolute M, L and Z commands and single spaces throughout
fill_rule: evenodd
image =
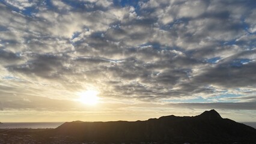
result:
M 255 0 L 0 0 L 0 121 L 256 122 L 255 19 Z

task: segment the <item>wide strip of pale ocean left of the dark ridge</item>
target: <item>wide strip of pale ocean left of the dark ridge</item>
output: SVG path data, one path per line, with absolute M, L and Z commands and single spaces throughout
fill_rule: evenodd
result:
M 3 122 L 0 128 L 56 128 L 64 122 Z

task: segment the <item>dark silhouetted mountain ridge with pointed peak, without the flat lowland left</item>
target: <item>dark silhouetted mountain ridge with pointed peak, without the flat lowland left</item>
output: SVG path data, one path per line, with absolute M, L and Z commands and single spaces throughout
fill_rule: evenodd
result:
M 223 119 L 215 110 L 198 116 L 171 115 L 136 122 L 66 122 L 54 133 L 88 142 L 256 143 L 254 128 Z

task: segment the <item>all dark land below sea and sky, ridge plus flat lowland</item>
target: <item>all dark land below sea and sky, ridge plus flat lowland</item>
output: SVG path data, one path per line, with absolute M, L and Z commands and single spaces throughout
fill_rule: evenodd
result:
M 55 129 L 0 129 L 0 143 L 256 143 L 256 130 L 215 110 L 147 121 L 66 122 Z

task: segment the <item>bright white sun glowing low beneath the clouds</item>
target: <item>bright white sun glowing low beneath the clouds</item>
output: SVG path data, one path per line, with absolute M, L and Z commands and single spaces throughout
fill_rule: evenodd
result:
M 95 105 L 99 103 L 100 98 L 97 96 L 98 94 L 99 92 L 96 90 L 87 90 L 84 92 L 79 92 L 79 101 L 84 104 Z

